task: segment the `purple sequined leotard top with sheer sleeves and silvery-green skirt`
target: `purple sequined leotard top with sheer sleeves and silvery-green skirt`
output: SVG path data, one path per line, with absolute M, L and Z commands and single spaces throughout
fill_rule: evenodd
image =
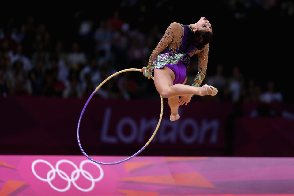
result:
M 192 86 L 199 87 L 206 74 L 209 43 L 197 50 L 193 33 L 190 25 L 171 23 L 149 58 L 145 76 L 151 74 L 154 68 L 177 65 L 179 61 L 187 68 L 190 57 L 198 54 L 198 74 Z

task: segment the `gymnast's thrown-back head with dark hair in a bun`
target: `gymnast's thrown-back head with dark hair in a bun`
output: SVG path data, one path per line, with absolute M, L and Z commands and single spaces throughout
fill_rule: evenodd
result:
M 212 38 L 212 27 L 205 17 L 201 17 L 191 28 L 195 35 L 197 49 L 201 50 Z

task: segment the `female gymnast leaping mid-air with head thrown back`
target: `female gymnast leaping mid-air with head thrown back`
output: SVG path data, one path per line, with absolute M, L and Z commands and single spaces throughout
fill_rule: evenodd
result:
M 190 25 L 173 22 L 153 50 L 147 67 L 141 69 L 148 79 L 154 70 L 154 84 L 159 94 L 163 98 L 168 98 L 171 121 L 180 118 L 179 106 L 187 105 L 194 94 L 214 96 L 218 92 L 216 88 L 207 84 L 199 87 L 206 74 L 211 38 L 211 24 L 205 17 Z M 198 74 L 192 86 L 189 86 L 185 85 L 186 68 L 194 54 L 198 54 Z

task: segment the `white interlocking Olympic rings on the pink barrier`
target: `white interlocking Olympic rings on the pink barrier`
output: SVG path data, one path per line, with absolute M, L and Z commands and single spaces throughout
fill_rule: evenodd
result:
M 36 173 L 36 171 L 35 171 L 35 165 L 36 165 L 37 163 L 45 163 L 45 164 L 47 164 L 47 165 L 51 168 L 51 170 L 48 171 L 46 178 L 41 178 L 41 177 Z M 62 164 L 62 163 L 68 163 L 68 164 L 74 166 L 75 170 L 74 170 L 73 172 L 71 172 L 70 177 L 66 174 L 66 172 L 64 172 L 64 171 L 62 171 L 62 170 L 59 169 L 59 165 Z M 98 167 L 98 169 L 100 170 L 100 176 L 99 176 L 98 178 L 93 178 L 93 176 L 92 176 L 88 171 L 86 171 L 86 170 L 83 169 L 83 166 L 85 165 L 85 163 L 92 163 L 92 164 L 96 165 L 96 166 Z M 98 165 L 98 164 L 96 164 L 96 163 L 93 163 L 93 162 L 90 161 L 90 160 L 84 160 L 84 161 L 82 161 L 82 162 L 80 163 L 80 167 L 77 168 L 77 166 L 76 166 L 73 162 L 71 162 L 71 161 L 69 161 L 69 160 L 66 160 L 66 159 L 62 159 L 62 160 L 57 161 L 55 167 L 56 167 L 56 168 L 54 168 L 54 167 L 51 165 L 51 163 L 49 163 L 48 161 L 45 161 L 45 160 L 43 160 L 43 159 L 37 159 L 37 160 L 35 160 L 35 161 L 32 163 L 32 172 L 33 172 L 33 174 L 34 174 L 38 179 L 40 179 L 40 180 L 42 180 L 42 181 L 44 181 L 44 182 L 48 182 L 49 185 L 50 185 L 54 190 L 57 190 L 57 191 L 59 191 L 59 192 L 65 192 L 65 191 L 69 190 L 69 189 L 70 189 L 70 185 L 71 185 L 71 183 L 73 183 L 74 186 L 75 186 L 78 190 L 81 190 L 81 191 L 84 191 L 84 192 L 89 192 L 89 191 L 93 190 L 93 188 L 95 187 L 95 182 L 100 181 L 100 180 L 103 178 L 103 176 L 104 176 L 103 169 L 101 168 L 101 166 Z M 59 176 L 60 178 L 62 178 L 62 179 L 64 179 L 64 180 L 67 181 L 67 186 L 66 186 L 65 188 L 63 188 L 63 189 L 56 188 L 56 187 L 51 183 L 51 181 L 52 181 L 53 179 L 55 179 L 56 173 L 58 174 L 58 176 Z M 84 188 L 79 187 L 79 186 L 76 184 L 75 181 L 76 181 L 77 179 L 79 179 L 80 174 L 82 174 L 87 180 L 89 180 L 89 181 L 92 182 L 92 183 L 91 183 L 91 186 L 90 186 L 89 188 L 84 189 Z M 50 176 L 51 176 L 51 177 L 50 177 Z

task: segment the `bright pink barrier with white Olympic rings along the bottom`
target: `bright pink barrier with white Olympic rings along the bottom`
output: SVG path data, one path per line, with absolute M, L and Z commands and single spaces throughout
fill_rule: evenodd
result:
M 293 182 L 294 158 L 0 155 L 0 196 L 281 196 Z

